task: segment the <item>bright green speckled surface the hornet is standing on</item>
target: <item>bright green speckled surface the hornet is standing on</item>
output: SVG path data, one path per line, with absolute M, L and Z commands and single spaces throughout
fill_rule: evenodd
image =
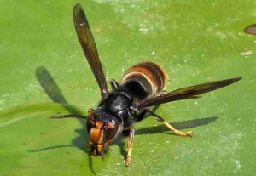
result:
M 132 167 L 124 167 L 127 138 L 110 146 L 103 162 L 86 150 L 84 121 L 49 119 L 86 115 L 100 100 L 73 27 L 76 3 L 108 80 L 146 60 L 166 69 L 168 90 L 243 79 L 202 99 L 160 106 L 166 121 L 195 131 L 192 139 L 148 118 L 135 125 Z M 255 22 L 255 9 L 250 0 L 1 1 L 0 175 L 253 175 L 256 37 L 243 28 Z

